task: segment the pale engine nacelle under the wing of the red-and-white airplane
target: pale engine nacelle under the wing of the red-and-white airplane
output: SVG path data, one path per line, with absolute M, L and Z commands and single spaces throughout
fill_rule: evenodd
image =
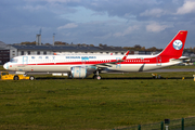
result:
M 87 77 L 87 67 L 72 67 L 72 78 L 86 78 Z

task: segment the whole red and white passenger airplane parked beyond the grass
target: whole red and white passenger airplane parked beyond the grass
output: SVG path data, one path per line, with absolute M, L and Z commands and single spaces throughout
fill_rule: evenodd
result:
M 101 73 L 131 73 L 159 69 L 183 61 L 182 53 L 187 30 L 180 30 L 169 44 L 156 55 L 102 55 L 102 54 L 64 54 L 64 55 L 21 55 L 3 65 L 4 69 L 16 74 L 52 73 L 69 78 L 86 78 L 93 74 L 101 79 Z M 17 79 L 17 78 L 16 78 Z M 30 80 L 35 77 L 30 76 Z

